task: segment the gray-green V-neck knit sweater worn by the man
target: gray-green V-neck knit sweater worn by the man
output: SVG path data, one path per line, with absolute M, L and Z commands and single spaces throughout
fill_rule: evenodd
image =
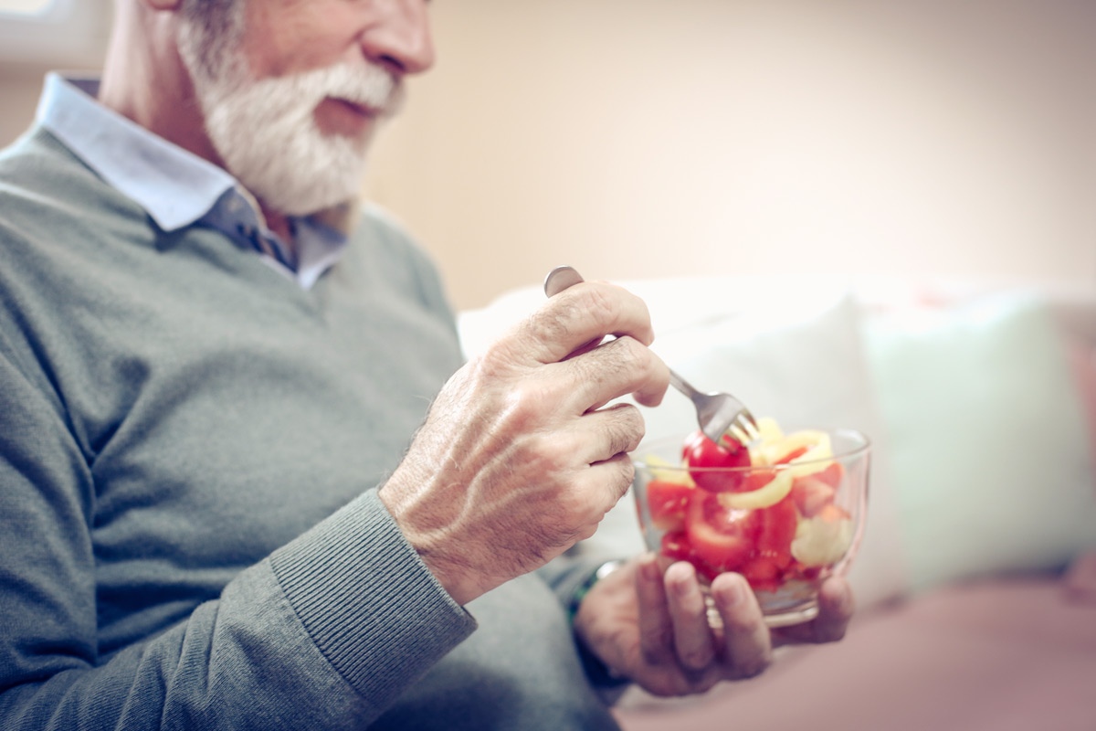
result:
M 0 728 L 615 728 L 548 584 L 459 607 L 377 499 L 459 358 L 376 210 L 305 290 L 0 156 Z

